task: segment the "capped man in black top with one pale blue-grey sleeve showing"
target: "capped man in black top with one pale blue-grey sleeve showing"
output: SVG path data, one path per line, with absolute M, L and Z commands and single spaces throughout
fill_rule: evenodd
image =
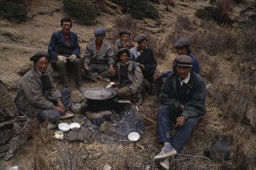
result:
M 157 70 L 157 60 L 154 58 L 154 53 L 151 48 L 148 48 L 148 36 L 146 34 L 140 34 L 136 37 L 135 41 L 138 43 L 137 47 L 131 48 L 131 60 L 140 63 L 140 69 L 142 71 L 147 91 L 152 91 L 154 83 L 154 75 L 160 73 Z

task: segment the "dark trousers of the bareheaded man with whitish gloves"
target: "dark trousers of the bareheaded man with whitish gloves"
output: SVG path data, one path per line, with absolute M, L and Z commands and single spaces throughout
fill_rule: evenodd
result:
M 67 65 L 71 65 L 75 70 L 76 85 L 82 85 L 82 62 L 80 59 L 76 58 L 73 62 L 70 62 L 70 60 L 67 59 L 66 63 L 60 61 L 59 59 L 52 59 L 51 62 L 57 65 L 57 70 L 61 76 L 61 82 L 64 84 L 64 87 L 69 87 L 67 78 Z

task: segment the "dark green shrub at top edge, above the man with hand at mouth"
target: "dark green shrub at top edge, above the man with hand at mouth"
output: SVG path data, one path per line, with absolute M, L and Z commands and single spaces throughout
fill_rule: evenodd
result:
M 123 14 L 130 13 L 137 20 L 143 20 L 144 17 L 157 19 L 157 9 L 148 3 L 147 0 L 112 0 L 122 7 Z

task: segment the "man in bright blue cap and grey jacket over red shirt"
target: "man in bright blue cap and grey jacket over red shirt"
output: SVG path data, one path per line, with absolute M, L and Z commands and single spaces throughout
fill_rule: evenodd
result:
M 95 82 L 97 79 L 110 82 L 109 78 L 116 75 L 113 67 L 115 64 L 113 49 L 108 42 L 104 41 L 104 28 L 96 28 L 93 33 L 95 40 L 86 45 L 82 76 Z M 86 71 L 88 67 L 91 68 L 91 73 Z

